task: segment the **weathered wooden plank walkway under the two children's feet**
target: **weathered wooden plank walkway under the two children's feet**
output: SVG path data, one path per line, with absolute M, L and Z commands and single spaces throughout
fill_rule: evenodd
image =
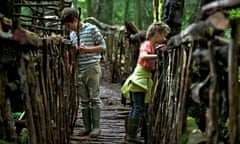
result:
M 125 117 L 130 111 L 129 106 L 120 104 L 120 93 L 117 91 L 106 90 L 101 87 L 101 99 L 103 106 L 101 110 L 101 135 L 98 138 L 89 136 L 78 136 L 82 128 L 82 116 L 79 113 L 70 144 L 123 144 L 125 137 Z M 117 95 L 116 95 L 117 93 Z

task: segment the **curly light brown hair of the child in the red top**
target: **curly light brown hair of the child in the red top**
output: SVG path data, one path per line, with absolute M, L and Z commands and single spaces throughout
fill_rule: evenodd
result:
M 167 24 L 163 22 L 154 22 L 148 27 L 146 39 L 149 40 L 156 32 L 168 35 L 170 32 L 170 28 Z

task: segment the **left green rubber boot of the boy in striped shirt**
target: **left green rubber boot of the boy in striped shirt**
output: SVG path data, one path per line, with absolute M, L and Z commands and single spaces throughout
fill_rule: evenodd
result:
M 91 115 L 89 108 L 82 109 L 83 128 L 80 129 L 79 136 L 86 136 L 91 131 Z

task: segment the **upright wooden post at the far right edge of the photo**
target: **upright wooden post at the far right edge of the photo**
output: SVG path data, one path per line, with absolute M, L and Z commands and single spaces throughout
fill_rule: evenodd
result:
M 239 123 L 239 84 L 238 84 L 238 48 L 240 33 L 240 19 L 233 20 L 232 39 L 228 56 L 228 97 L 229 97 L 229 118 L 230 118 L 230 142 L 240 143 L 240 123 Z

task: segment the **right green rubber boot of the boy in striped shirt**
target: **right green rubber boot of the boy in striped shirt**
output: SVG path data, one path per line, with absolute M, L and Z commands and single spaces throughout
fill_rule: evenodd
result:
M 90 132 L 90 137 L 98 137 L 101 133 L 100 124 L 99 124 L 100 112 L 101 112 L 100 107 L 91 108 L 93 129 Z

